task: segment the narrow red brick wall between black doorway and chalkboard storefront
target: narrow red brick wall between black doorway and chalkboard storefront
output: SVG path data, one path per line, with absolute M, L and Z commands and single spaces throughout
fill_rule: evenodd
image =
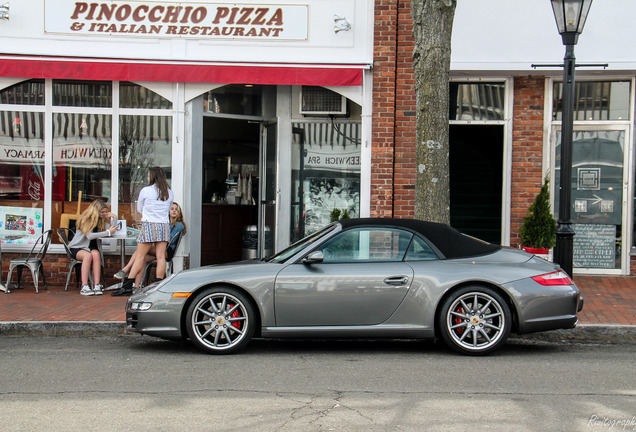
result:
M 514 80 L 510 244 L 520 243 L 519 228 L 543 183 L 543 108 L 545 78 Z

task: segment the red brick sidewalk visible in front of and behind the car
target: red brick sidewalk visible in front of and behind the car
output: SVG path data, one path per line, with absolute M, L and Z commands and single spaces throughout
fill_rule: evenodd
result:
M 575 277 L 585 304 L 579 313 L 580 325 L 636 326 L 636 277 L 580 276 Z M 71 284 L 51 286 L 48 290 L 30 286 L 0 292 L 0 323 L 7 322 L 106 322 L 126 321 L 127 297 L 81 296 Z M 0 332 L 2 329 L 0 328 Z

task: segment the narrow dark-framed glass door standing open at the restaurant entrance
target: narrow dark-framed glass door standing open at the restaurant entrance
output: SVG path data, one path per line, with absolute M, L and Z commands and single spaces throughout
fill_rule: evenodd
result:
M 276 203 L 278 201 L 278 121 L 263 122 L 261 138 L 258 245 L 259 257 L 272 255 L 276 238 Z

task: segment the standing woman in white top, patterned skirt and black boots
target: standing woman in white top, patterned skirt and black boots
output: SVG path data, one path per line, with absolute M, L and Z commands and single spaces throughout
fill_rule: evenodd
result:
M 148 170 L 148 184 L 139 192 L 137 200 L 137 211 L 142 214 L 135 252 L 139 259 L 135 259 L 128 278 L 112 294 L 114 296 L 132 294 L 135 277 L 144 270 L 146 255 L 153 245 L 157 257 L 157 279 L 163 279 L 166 274 L 166 247 L 170 241 L 170 207 L 174 194 L 160 167 Z

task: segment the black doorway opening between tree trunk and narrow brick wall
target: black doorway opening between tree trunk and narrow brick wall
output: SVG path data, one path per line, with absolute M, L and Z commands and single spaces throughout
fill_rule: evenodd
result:
M 450 126 L 451 225 L 496 244 L 501 244 L 503 143 L 503 126 Z

